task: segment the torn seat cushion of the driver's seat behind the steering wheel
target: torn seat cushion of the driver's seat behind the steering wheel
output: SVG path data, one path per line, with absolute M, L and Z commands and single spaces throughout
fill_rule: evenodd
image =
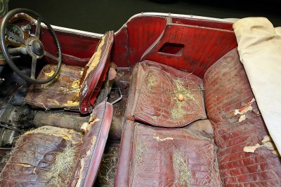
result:
M 56 69 L 55 64 L 47 64 L 38 78 L 46 79 Z M 79 108 L 79 83 L 83 68 L 65 64 L 60 69 L 58 78 L 44 85 L 32 84 L 25 97 L 25 102 L 43 109 Z

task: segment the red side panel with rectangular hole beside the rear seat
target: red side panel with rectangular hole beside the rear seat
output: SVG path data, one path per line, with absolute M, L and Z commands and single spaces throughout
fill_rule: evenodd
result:
M 182 54 L 159 53 L 165 43 L 183 45 Z M 157 41 L 145 51 L 141 61 L 161 62 L 202 78 L 211 64 L 236 46 L 235 34 L 228 30 L 169 24 Z

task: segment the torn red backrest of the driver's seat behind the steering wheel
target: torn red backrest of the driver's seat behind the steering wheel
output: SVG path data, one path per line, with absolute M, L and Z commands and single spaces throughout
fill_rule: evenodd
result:
M 106 32 L 96 52 L 89 63 L 84 67 L 83 76 L 80 81 L 79 109 L 81 113 L 90 113 L 100 87 L 105 81 L 106 72 L 110 64 L 110 51 L 112 48 L 114 33 Z

